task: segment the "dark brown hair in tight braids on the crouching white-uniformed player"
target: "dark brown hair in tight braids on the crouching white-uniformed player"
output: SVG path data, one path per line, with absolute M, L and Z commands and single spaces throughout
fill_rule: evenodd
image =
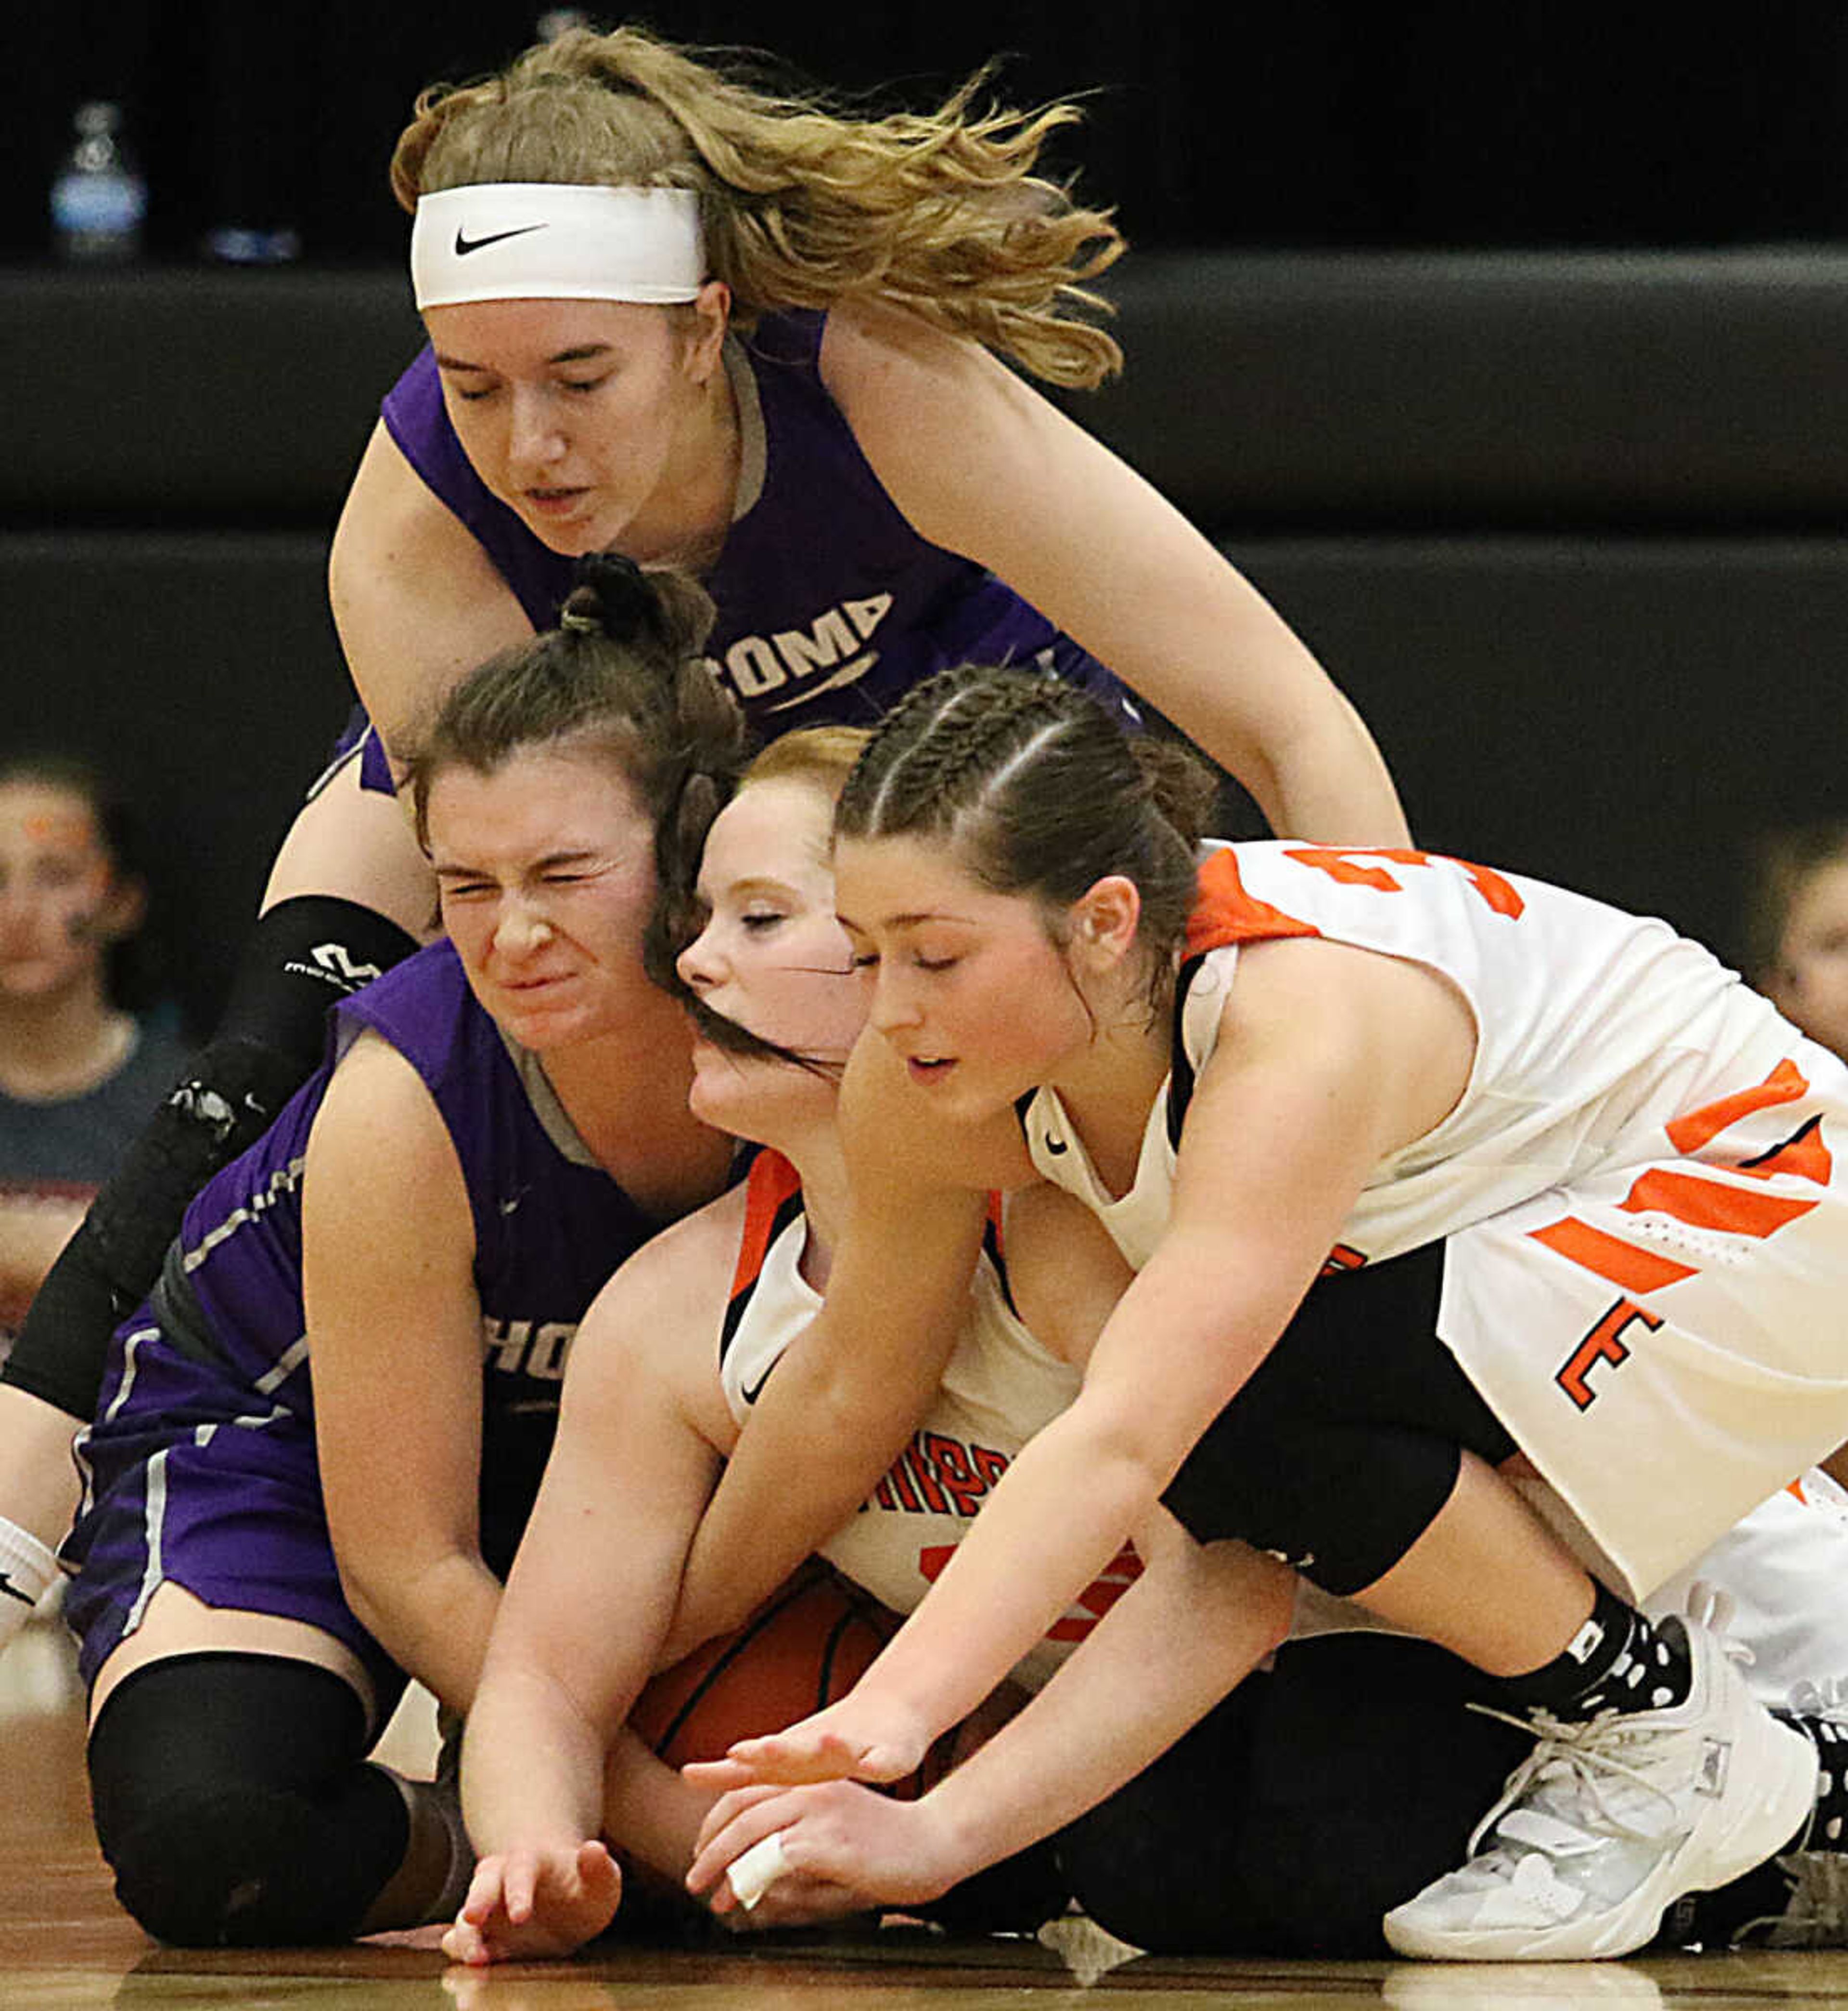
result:
M 1160 995 L 1194 903 L 1194 845 L 1213 810 L 1207 764 L 1154 734 L 1128 736 L 1078 686 L 1020 670 L 939 670 L 879 724 L 835 833 L 949 845 L 995 893 L 1058 913 L 1106 875 L 1142 897 L 1138 937 Z

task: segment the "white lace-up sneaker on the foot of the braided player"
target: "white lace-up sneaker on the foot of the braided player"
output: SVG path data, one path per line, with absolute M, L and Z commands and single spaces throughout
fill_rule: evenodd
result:
M 1762 1864 L 1814 1806 L 1816 1748 L 1753 1699 L 1725 1645 L 1687 1639 L 1683 1703 L 1532 1713 L 1538 1742 L 1470 1838 L 1470 1860 L 1385 1916 L 1400 1955 L 1462 1963 L 1595 1961 L 1645 1947 L 1683 1892 Z

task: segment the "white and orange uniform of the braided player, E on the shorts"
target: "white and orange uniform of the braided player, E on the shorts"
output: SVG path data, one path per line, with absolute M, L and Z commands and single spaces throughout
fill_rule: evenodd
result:
M 1848 1070 L 1661 921 L 1412 851 L 1213 851 L 1178 1052 L 1112 1197 L 1058 1096 L 1040 1172 L 1144 1265 L 1239 945 L 1321 937 L 1442 973 L 1468 1086 L 1383 1160 L 1331 1265 L 1446 1241 L 1438 1331 L 1641 1597 L 1848 1440 Z

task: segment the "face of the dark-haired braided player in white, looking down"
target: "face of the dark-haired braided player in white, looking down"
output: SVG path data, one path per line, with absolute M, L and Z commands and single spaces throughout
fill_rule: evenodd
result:
M 875 973 L 873 1028 L 947 1114 L 1003 1110 L 1090 1044 L 1092 1018 L 1040 909 L 983 887 L 943 847 L 841 839 L 835 897 Z

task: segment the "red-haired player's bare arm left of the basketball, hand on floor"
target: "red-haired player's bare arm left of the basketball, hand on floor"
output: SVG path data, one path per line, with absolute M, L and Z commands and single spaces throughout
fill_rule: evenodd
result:
M 631 1257 L 573 1343 L 469 1719 L 465 1810 L 483 1864 L 448 1945 L 460 1961 L 563 1955 L 601 1933 L 619 1896 L 591 1848 L 603 1836 L 668 1874 L 686 1864 L 704 1796 L 639 1748 L 609 1758 L 728 1436 L 700 1384 L 714 1384 L 738 1207 L 726 1197 Z

